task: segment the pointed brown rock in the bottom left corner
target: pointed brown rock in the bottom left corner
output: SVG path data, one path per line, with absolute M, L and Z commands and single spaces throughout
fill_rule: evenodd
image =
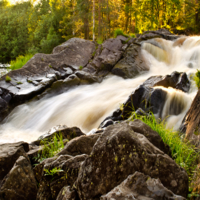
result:
M 0 199 L 35 200 L 36 194 L 37 182 L 30 161 L 20 156 L 1 183 Z

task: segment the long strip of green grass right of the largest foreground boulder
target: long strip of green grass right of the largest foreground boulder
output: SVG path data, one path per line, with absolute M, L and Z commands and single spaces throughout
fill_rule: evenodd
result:
M 186 170 L 189 182 L 191 182 L 197 166 L 197 159 L 200 155 L 195 147 L 190 143 L 185 143 L 181 139 L 179 132 L 166 129 L 164 121 L 158 122 L 153 114 L 150 116 L 139 116 L 134 113 L 134 118 L 142 120 L 161 136 L 163 142 L 169 145 L 172 158 Z

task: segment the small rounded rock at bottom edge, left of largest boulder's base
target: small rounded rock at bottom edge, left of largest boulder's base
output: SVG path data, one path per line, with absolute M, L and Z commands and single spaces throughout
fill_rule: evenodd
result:
M 79 197 L 75 190 L 71 190 L 70 186 L 65 186 L 59 192 L 56 200 L 79 200 Z

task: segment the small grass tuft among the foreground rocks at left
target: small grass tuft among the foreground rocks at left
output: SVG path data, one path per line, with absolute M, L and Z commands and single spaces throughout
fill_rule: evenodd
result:
M 42 140 L 40 145 L 43 145 L 44 148 L 39 152 L 38 156 L 35 157 L 35 160 L 38 162 L 42 162 L 46 158 L 54 157 L 64 148 L 62 134 L 56 134 L 51 141 Z

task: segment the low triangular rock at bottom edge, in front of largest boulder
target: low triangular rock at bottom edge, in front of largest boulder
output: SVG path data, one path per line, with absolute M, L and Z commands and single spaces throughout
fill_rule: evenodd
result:
M 108 194 L 101 196 L 101 200 L 186 200 L 173 194 L 165 188 L 159 179 L 151 178 L 140 172 L 129 175 L 119 186 Z

